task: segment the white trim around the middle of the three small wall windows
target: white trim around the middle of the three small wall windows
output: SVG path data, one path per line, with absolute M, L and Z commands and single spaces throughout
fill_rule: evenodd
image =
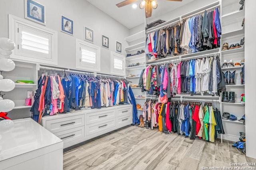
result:
M 98 56 L 98 62 L 96 63 L 96 67 L 90 67 L 90 66 L 82 66 L 80 64 L 80 45 L 90 47 L 97 50 Z M 86 70 L 86 71 L 94 71 L 94 72 L 100 72 L 100 47 L 91 43 L 87 43 L 83 40 L 76 39 L 76 68 L 80 70 Z

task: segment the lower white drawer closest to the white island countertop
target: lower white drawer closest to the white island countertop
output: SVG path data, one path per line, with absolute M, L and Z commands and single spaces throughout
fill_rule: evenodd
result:
M 74 129 L 69 129 L 66 131 L 57 132 L 57 133 L 54 133 L 54 135 L 56 135 L 58 138 L 64 141 L 64 143 L 74 141 L 85 136 L 84 126 L 76 127 Z

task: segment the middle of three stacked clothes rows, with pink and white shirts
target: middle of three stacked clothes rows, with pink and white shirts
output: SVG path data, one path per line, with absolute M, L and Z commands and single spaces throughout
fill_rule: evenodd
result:
M 139 87 L 148 94 L 170 98 L 175 94 L 211 94 L 226 91 L 218 55 L 175 63 L 149 65 L 140 74 Z

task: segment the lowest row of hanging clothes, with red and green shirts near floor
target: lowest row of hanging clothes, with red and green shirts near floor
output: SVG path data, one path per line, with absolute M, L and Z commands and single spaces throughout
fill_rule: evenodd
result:
M 180 102 L 168 100 L 146 100 L 143 119 L 150 122 L 150 128 L 158 127 L 160 132 L 204 139 L 214 142 L 217 133 L 224 134 L 220 110 L 212 102 Z

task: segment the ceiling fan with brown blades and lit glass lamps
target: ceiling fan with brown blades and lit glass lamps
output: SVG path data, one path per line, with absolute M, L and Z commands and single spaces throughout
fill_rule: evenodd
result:
M 129 4 L 132 4 L 133 2 L 137 2 L 139 0 L 125 0 L 123 2 L 120 2 L 116 4 L 118 8 L 122 6 L 126 6 Z M 168 0 L 168 1 L 182 1 L 182 0 Z M 140 9 L 145 8 L 145 13 L 146 13 L 146 18 L 151 17 L 152 15 L 152 8 L 156 9 L 157 8 L 157 2 L 156 0 L 141 0 L 140 2 Z

